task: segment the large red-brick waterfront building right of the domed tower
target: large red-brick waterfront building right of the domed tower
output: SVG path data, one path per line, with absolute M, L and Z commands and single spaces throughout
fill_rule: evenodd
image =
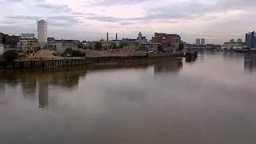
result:
M 162 45 L 171 46 L 178 50 L 178 45 L 181 41 L 182 38 L 178 34 L 154 33 L 151 43 L 161 43 Z

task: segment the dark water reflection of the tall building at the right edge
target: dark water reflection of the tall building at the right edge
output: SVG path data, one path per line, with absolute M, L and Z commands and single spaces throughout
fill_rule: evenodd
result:
M 256 53 L 245 54 L 245 70 L 256 70 Z

